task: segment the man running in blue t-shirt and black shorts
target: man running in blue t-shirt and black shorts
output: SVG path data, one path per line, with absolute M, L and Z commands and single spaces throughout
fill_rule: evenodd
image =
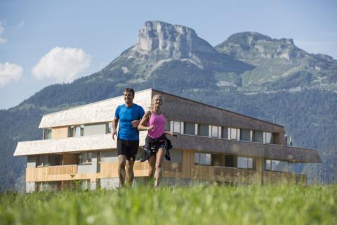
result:
M 128 186 L 133 184 L 133 164 L 139 147 L 139 131 L 137 129 L 139 121 L 143 118 L 145 111 L 140 105 L 133 103 L 135 91 L 127 88 L 123 92 L 125 104 L 119 105 L 112 120 L 112 139 L 117 134 L 117 124 L 119 129 L 117 134 L 118 153 L 118 178 L 119 186 L 124 186 L 124 181 Z

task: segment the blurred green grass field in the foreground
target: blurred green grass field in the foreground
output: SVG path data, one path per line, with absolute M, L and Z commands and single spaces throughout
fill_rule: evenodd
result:
M 2 193 L 0 224 L 337 224 L 337 186 Z

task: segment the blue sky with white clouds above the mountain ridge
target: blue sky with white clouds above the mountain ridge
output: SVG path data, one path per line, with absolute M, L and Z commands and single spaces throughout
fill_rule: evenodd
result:
M 254 31 L 337 59 L 337 1 L 1 0 L 0 109 L 101 70 L 147 20 L 192 27 L 213 46 Z

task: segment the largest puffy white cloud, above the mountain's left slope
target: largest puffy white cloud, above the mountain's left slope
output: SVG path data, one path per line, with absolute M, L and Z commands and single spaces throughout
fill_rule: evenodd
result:
M 55 47 L 34 66 L 32 75 L 38 80 L 69 83 L 91 65 L 91 59 L 82 49 Z

